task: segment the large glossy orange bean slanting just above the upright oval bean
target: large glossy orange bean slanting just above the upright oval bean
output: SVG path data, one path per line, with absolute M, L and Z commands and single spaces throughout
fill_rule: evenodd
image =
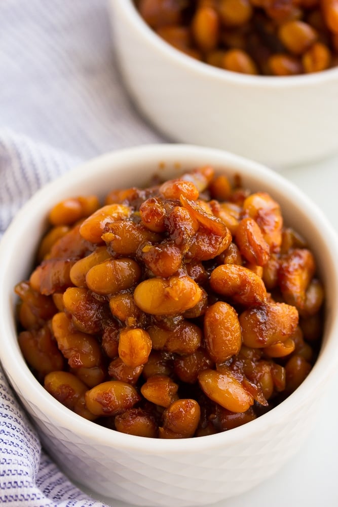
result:
M 217 266 L 210 275 L 210 286 L 218 294 L 242 305 L 261 305 L 267 301 L 262 279 L 253 271 L 237 264 Z

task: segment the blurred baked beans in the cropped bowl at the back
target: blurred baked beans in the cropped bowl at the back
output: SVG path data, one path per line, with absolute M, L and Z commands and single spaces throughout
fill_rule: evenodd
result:
M 338 64 L 338 0 L 136 0 L 166 42 L 216 67 L 292 76 Z

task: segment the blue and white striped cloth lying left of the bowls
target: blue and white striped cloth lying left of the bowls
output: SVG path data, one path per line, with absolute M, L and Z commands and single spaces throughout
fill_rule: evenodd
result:
M 0 2 L 0 235 L 49 180 L 98 154 L 159 142 L 112 51 L 105 0 Z M 41 449 L 0 367 L 0 504 L 99 507 Z

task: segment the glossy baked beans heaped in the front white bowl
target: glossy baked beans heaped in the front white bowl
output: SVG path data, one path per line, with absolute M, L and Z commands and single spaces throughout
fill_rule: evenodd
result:
M 63 405 L 142 437 L 242 425 L 303 382 L 322 335 L 312 252 L 279 204 L 210 166 L 65 199 L 19 296 L 19 345 Z

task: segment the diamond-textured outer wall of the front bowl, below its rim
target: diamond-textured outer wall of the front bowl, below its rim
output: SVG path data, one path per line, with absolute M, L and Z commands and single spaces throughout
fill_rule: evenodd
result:
M 84 440 L 76 428 L 57 426 L 31 400 L 19 396 L 43 445 L 74 481 L 99 495 L 146 507 L 187 507 L 217 502 L 268 479 L 301 446 L 311 429 L 314 403 L 282 419 L 254 440 L 199 453 L 142 453 Z M 306 427 L 304 421 L 307 421 Z

